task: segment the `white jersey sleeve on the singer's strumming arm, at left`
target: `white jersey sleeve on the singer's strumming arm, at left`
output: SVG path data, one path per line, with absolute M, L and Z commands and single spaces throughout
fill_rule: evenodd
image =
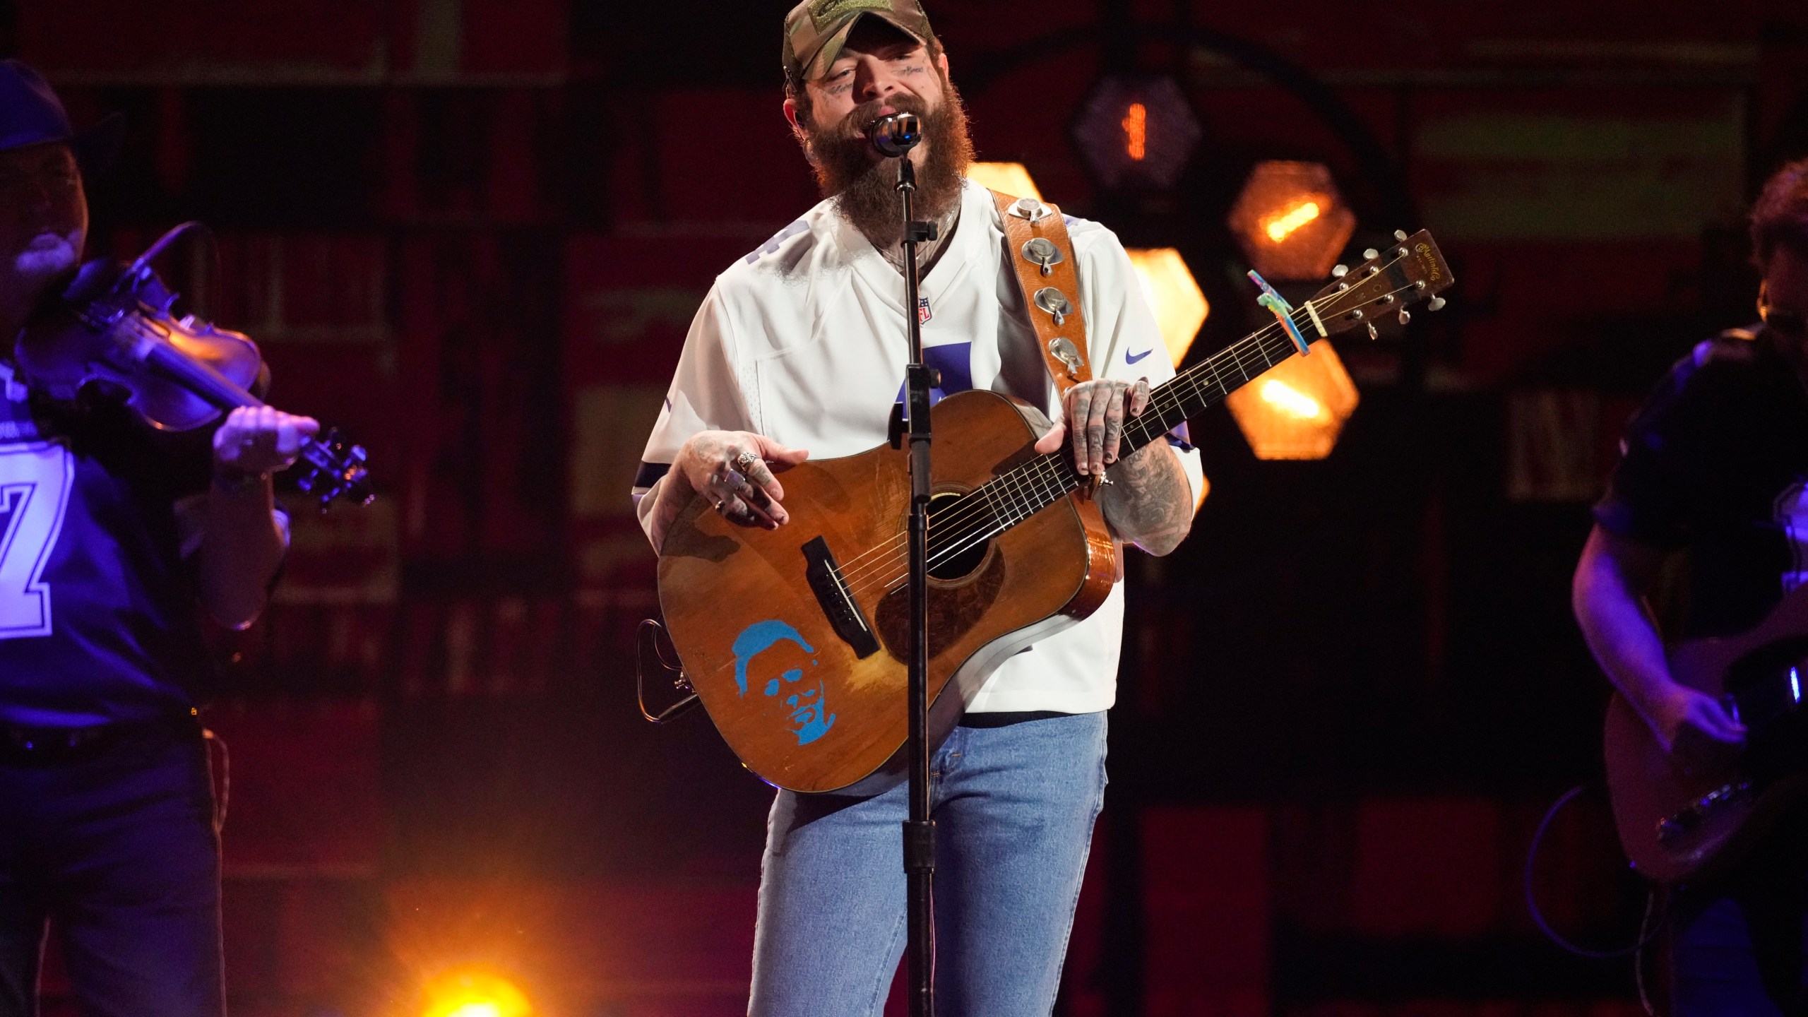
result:
M 640 516 L 640 528 L 647 532 L 654 548 L 664 534 L 653 532 L 653 507 L 678 449 L 700 431 L 752 429 L 747 396 L 734 371 L 734 337 L 718 282 L 691 318 L 691 333 L 685 335 L 683 353 L 678 355 L 678 371 L 665 391 L 665 405 L 660 407 L 660 418 L 647 436 L 647 447 L 640 454 L 640 472 L 635 474 L 631 492 L 635 510 Z

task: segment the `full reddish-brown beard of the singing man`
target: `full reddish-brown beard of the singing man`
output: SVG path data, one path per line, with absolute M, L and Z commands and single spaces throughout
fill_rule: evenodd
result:
M 823 197 L 833 197 L 835 208 L 879 250 L 895 248 L 904 239 L 897 166 L 891 159 L 873 161 L 861 132 L 879 119 L 879 109 L 886 105 L 922 118 L 926 150 L 917 166 L 918 219 L 947 221 L 960 206 L 960 185 L 973 165 L 967 110 L 947 78 L 942 78 L 942 105 L 933 110 L 917 96 L 893 96 L 862 103 L 830 130 L 810 132 L 805 154 L 815 168 Z

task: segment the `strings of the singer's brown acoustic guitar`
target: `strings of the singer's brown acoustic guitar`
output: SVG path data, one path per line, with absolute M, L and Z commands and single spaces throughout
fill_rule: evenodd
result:
M 1380 275 L 1381 271 L 1385 271 L 1387 268 L 1392 268 L 1394 264 L 1398 264 L 1403 259 L 1405 259 L 1405 255 L 1396 257 L 1394 261 L 1387 262 L 1385 266 L 1380 266 L 1378 271 L 1370 273 L 1370 277 L 1372 275 Z M 1398 293 L 1405 293 L 1405 291 L 1416 290 L 1416 288 L 1417 288 L 1417 284 L 1410 284 L 1410 286 L 1403 286 L 1399 290 L 1392 290 L 1385 297 L 1363 297 L 1363 299 L 1358 300 L 1358 304 L 1367 304 L 1367 302 L 1372 302 L 1372 300 L 1385 300 L 1387 297 L 1392 297 L 1392 295 L 1398 295 Z M 1323 308 L 1316 308 L 1316 304 L 1314 304 L 1314 308 L 1320 309 L 1322 313 L 1323 311 L 1329 311 L 1332 315 L 1347 313 L 1347 311 L 1336 308 L 1336 304 L 1340 300 L 1351 297 L 1351 295 L 1356 295 L 1356 293 L 1358 293 L 1358 288 L 1342 290 L 1342 291 L 1334 293 L 1327 300 L 1327 304 Z M 1305 311 L 1305 308 L 1300 308 L 1300 309 L 1293 311 L 1289 315 L 1289 318 L 1295 322 L 1296 328 L 1304 328 L 1305 324 L 1309 324 L 1309 313 Z M 1267 342 L 1269 338 L 1285 338 L 1285 342 L 1271 346 Z M 1255 353 L 1255 356 L 1246 356 L 1246 353 Z M 1275 356 L 1271 356 L 1271 353 L 1282 353 L 1282 356 L 1275 358 Z M 1132 423 L 1126 423 L 1125 431 L 1128 431 L 1132 425 L 1135 425 L 1143 432 L 1143 443 L 1154 442 L 1159 434 L 1152 434 L 1150 432 L 1148 422 L 1152 420 L 1152 416 L 1154 418 L 1161 418 L 1161 416 L 1166 416 L 1166 413 L 1182 409 L 1182 405 L 1184 405 L 1182 396 L 1181 396 L 1182 389 L 1188 391 L 1188 393 L 1191 393 L 1193 396 L 1204 396 L 1211 387 L 1215 387 L 1215 389 L 1219 389 L 1219 398 L 1222 398 L 1222 396 L 1226 396 L 1226 394 L 1229 394 L 1233 391 L 1233 387 L 1226 385 L 1224 380 L 1222 380 L 1224 378 L 1224 371 L 1222 371 L 1224 367 L 1235 367 L 1237 373 L 1242 375 L 1244 382 L 1248 384 L 1253 378 L 1260 376 L 1269 367 L 1273 367 L 1273 366 L 1276 366 L 1276 364 L 1291 358 L 1293 353 L 1295 353 L 1293 340 L 1291 340 L 1291 337 L 1285 335 L 1285 329 L 1280 328 L 1280 322 L 1267 324 L 1267 326 L 1264 326 L 1264 328 L 1249 333 L 1242 340 L 1238 340 L 1238 342 L 1235 342 L 1235 344 L 1231 344 L 1231 346 L 1228 346 L 1228 347 L 1213 353 L 1211 356 L 1208 356 L 1201 364 L 1193 366 L 1191 369 L 1182 371 L 1182 373 L 1175 375 L 1173 378 L 1170 378 L 1168 384 L 1163 384 L 1157 389 L 1157 393 L 1150 400 L 1150 405 L 1144 409 L 1143 416 L 1137 416 L 1137 418 L 1134 418 Z M 1253 364 L 1253 362 L 1257 362 L 1257 360 L 1262 362 L 1262 367 L 1255 375 L 1251 375 L 1249 369 L 1248 369 L 1248 366 Z M 1208 373 L 1210 373 L 1210 382 L 1206 380 Z M 1179 384 L 1179 382 L 1184 382 L 1184 384 Z M 1159 407 L 1159 404 L 1168 404 L 1168 405 Z M 1150 414 L 1150 411 L 1157 411 L 1157 413 Z M 1163 431 L 1166 431 L 1166 429 L 1163 429 Z M 1038 460 L 1032 460 L 1031 463 L 1025 463 L 1025 465 L 1016 467 L 1016 469 L 1012 469 L 1012 470 L 1009 470 L 1005 474 L 1000 474 L 1000 476 L 996 476 L 996 478 L 982 483 L 980 487 L 976 487 L 976 489 L 962 494 L 960 501 L 956 505 L 949 507 L 955 512 L 955 516 L 949 518 L 949 519 L 946 519 L 946 521 L 942 521 L 940 527 L 935 527 L 935 528 L 940 530 L 940 534 L 931 532 L 931 543 L 937 537 L 940 537 L 944 547 L 931 548 L 929 566 L 933 568 L 935 565 L 946 563 L 947 559 L 956 557 L 956 556 L 964 554 L 965 550 L 971 550 L 978 543 L 993 539 L 1003 528 L 1009 528 L 1009 527 L 1012 527 L 1016 523 L 1022 523 L 1029 516 L 1040 512 L 1041 508 L 1047 508 L 1056 499 L 1059 499 L 1061 496 L 1065 496 L 1070 490 L 1074 490 L 1074 487 L 1078 487 L 1078 483 L 1079 483 L 1079 478 L 1078 476 L 1072 476 L 1072 478 L 1059 476 L 1061 467 L 1050 467 L 1050 463 L 1056 463 L 1056 461 L 1059 461 L 1061 465 L 1065 465 L 1065 460 L 1061 460 L 1059 452 L 1045 454 L 1045 456 L 1041 456 Z M 1011 523 L 1003 525 L 1003 527 L 998 527 L 998 523 L 1002 519 L 998 519 L 994 508 L 998 508 L 1000 505 L 993 499 L 993 494 L 1003 494 L 1005 496 L 1005 503 L 1002 507 L 1014 510 L 1018 514 L 1018 518 L 1012 519 Z M 987 516 L 993 518 L 993 525 L 991 527 L 984 525 Z M 975 521 L 978 521 L 980 527 L 978 528 L 969 528 Z M 937 519 L 931 518 L 931 525 L 935 525 L 935 523 L 937 523 Z M 951 528 L 955 530 L 953 534 L 949 534 Z M 888 565 L 893 565 L 893 566 L 897 565 L 897 545 L 900 541 L 908 541 L 908 536 L 906 534 L 897 534 L 891 539 L 880 543 L 879 547 L 873 547 L 873 548 L 870 548 L 870 550 L 855 556 L 853 559 L 850 559 L 850 565 L 855 565 L 855 563 L 862 563 L 864 559 L 871 557 L 873 554 L 886 552 L 886 550 L 893 552 L 893 554 L 886 556 L 880 561 L 866 563 L 866 565 L 861 565 L 859 568 L 844 572 L 844 583 L 846 583 L 850 594 L 861 595 L 861 594 L 871 592 L 871 588 L 875 586 L 875 583 L 871 581 L 873 572 L 882 570 Z M 908 548 L 906 548 L 906 556 L 904 557 L 908 557 Z M 900 577 L 897 574 L 890 574 L 890 575 L 882 577 L 880 585 L 890 592 L 890 588 L 893 588 L 899 581 L 902 581 L 908 575 Z

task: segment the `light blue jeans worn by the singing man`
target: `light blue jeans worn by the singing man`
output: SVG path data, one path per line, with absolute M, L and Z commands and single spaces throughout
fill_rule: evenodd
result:
M 937 1012 L 1047 1017 L 1105 802 L 1105 715 L 955 727 L 931 775 Z M 904 954 L 906 811 L 904 785 L 777 794 L 752 1017 L 880 1013 Z

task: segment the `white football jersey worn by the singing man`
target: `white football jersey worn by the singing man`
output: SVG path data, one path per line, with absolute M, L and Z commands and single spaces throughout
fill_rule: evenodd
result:
M 1168 347 L 1117 237 L 1085 219 L 1067 219 L 1079 273 L 1096 378 L 1173 376 Z M 1061 405 L 1043 364 L 1007 261 L 991 194 L 967 181 L 960 219 L 922 279 L 924 360 L 953 394 L 993 389 L 1041 407 Z M 765 246 L 716 277 L 691 322 L 678 373 L 665 396 L 635 481 L 642 527 L 678 449 L 698 431 L 752 431 L 812 458 L 864 452 L 886 442 L 891 407 L 904 391 L 908 340 L 904 277 L 823 201 Z M 955 440 L 937 434 L 940 442 Z M 1170 436 L 1197 501 L 1204 483 L 1199 452 L 1184 431 Z M 783 476 L 779 478 L 783 481 Z M 1117 695 L 1123 588 L 1079 624 L 1040 639 L 1007 659 L 969 706 L 975 713 L 1092 713 Z

